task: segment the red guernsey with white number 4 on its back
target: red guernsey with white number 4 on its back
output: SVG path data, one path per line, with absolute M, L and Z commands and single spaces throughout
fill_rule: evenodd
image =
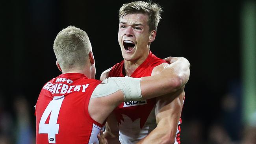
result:
M 88 103 L 99 83 L 79 73 L 47 82 L 35 109 L 36 144 L 97 144 L 103 125 L 91 118 Z

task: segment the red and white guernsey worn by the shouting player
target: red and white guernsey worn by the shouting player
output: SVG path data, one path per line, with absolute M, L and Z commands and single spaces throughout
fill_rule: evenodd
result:
M 131 77 L 151 76 L 154 67 L 162 63 L 167 62 L 150 52 L 147 59 L 132 73 Z M 109 77 L 124 77 L 123 69 L 124 61 L 121 61 L 111 68 Z M 115 108 L 114 113 L 119 123 L 119 140 L 121 144 L 134 144 L 156 128 L 155 109 L 156 98 L 122 102 Z M 181 124 L 181 119 L 179 124 Z M 174 144 L 180 143 L 179 132 L 180 126 L 178 126 Z

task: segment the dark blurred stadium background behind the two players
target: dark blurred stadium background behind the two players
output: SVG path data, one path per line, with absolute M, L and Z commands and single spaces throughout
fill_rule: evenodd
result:
M 151 51 L 191 63 L 182 144 L 256 144 L 256 1 L 152 0 L 163 7 Z M 34 105 L 60 74 L 58 32 L 86 31 L 96 78 L 122 60 L 118 11 L 128 0 L 1 1 L 0 144 L 35 143 Z

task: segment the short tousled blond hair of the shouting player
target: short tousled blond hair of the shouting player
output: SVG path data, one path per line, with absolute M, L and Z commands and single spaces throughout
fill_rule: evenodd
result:
M 156 4 L 143 1 L 130 2 L 123 4 L 119 9 L 119 18 L 124 17 L 126 14 L 143 13 L 148 15 L 149 30 L 156 30 L 158 23 L 161 19 L 162 8 Z

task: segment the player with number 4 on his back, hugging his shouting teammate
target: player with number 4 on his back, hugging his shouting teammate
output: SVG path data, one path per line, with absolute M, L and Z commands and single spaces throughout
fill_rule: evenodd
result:
M 95 60 L 85 31 L 69 26 L 54 41 L 62 72 L 42 88 L 36 106 L 36 144 L 98 144 L 98 133 L 121 102 L 175 92 L 189 79 L 189 62 L 169 57 L 169 65 L 151 77 L 95 78 Z

